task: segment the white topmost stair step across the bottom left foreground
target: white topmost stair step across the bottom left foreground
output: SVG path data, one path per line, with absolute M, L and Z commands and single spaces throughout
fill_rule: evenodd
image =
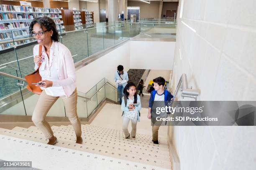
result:
M 4 131 L 5 129 L 0 129 L 0 133 L 3 133 Z M 30 160 L 32 161 L 32 167 L 39 169 L 166 170 L 165 168 L 156 166 L 61 148 L 56 145 L 47 145 L 40 142 L 21 139 L 20 137 L 11 137 L 10 134 L 0 135 L 0 146 L 4 146 L 4 149 L 1 149 L 1 155 L 4 155 L 4 157 L 1 157 L 2 159 L 16 161 Z

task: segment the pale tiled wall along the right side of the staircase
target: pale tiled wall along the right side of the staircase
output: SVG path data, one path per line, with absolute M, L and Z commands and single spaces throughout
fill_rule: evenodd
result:
M 184 0 L 179 18 L 182 1 L 173 86 L 186 73 L 198 100 L 256 100 L 256 1 Z M 256 127 L 174 127 L 174 144 L 182 170 L 256 169 Z

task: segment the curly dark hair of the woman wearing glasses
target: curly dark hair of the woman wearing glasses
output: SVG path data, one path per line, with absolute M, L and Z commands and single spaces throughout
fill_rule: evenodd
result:
M 56 24 L 54 23 L 54 20 L 52 20 L 49 17 L 41 17 L 41 18 L 35 18 L 33 19 L 33 21 L 30 23 L 29 25 L 29 34 L 30 37 L 33 37 L 33 26 L 38 23 L 41 28 L 43 29 L 43 26 L 48 30 L 52 30 L 53 34 L 51 36 L 51 40 L 53 40 L 54 42 L 58 42 L 59 41 L 59 33 L 56 30 Z

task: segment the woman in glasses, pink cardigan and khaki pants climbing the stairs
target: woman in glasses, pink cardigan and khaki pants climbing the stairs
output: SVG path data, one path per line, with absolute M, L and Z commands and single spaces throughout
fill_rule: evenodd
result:
M 82 144 L 81 122 L 77 116 L 76 74 L 72 55 L 67 47 L 58 42 L 59 34 L 51 18 L 35 18 L 30 24 L 29 32 L 38 42 L 33 49 L 33 55 L 35 70 L 41 63 L 39 74 L 42 80 L 39 83 L 42 85 L 39 86 L 43 90 L 33 112 L 32 121 L 49 139 L 47 144 L 54 145 L 57 138 L 45 117 L 54 102 L 61 97 L 77 136 L 76 143 Z M 39 45 L 42 46 L 41 54 L 38 54 Z

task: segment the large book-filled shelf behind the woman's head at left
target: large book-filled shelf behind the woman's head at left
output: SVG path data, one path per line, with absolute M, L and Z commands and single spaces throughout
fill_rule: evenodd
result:
M 0 5 L 0 52 L 10 49 L 13 45 L 20 46 L 35 42 L 35 40 L 28 39 L 29 25 L 34 18 L 44 16 L 54 20 L 59 32 L 64 30 L 59 9 Z

